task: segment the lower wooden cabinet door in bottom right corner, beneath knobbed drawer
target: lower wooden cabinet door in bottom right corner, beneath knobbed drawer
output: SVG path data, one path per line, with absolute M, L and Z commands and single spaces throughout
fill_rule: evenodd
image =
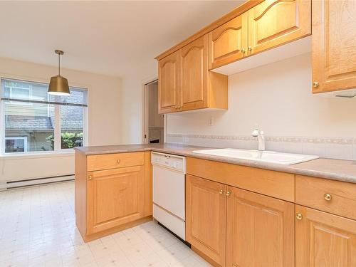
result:
M 295 206 L 295 266 L 356 266 L 356 221 Z

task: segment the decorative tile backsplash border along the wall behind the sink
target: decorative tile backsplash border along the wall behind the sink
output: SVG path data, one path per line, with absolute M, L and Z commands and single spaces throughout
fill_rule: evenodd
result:
M 206 147 L 256 149 L 257 137 L 248 135 L 192 135 L 168 133 L 167 142 Z M 266 136 L 266 150 L 356 160 L 355 137 Z

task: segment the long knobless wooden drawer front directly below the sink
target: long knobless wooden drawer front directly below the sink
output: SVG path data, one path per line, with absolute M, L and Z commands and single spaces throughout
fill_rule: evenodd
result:
M 294 201 L 294 174 L 187 157 L 187 174 Z

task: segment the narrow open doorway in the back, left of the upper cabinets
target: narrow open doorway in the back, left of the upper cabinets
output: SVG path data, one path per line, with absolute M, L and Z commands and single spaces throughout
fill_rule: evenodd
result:
M 143 141 L 146 144 L 164 142 L 164 115 L 158 114 L 158 80 L 144 86 L 145 115 Z

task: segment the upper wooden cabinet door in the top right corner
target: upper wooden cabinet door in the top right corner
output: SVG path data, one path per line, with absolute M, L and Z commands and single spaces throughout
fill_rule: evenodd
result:
M 356 1 L 313 1 L 313 93 L 356 88 Z

